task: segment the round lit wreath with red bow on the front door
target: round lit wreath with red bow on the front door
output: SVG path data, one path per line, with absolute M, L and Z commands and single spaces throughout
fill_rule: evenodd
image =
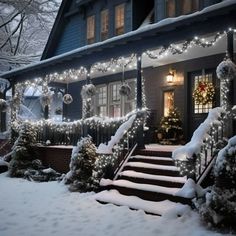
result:
M 206 105 L 213 101 L 215 88 L 211 82 L 200 81 L 193 91 L 193 98 L 196 104 Z

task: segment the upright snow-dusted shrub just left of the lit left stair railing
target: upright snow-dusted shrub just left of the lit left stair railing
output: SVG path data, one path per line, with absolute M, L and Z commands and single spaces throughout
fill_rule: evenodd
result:
M 93 189 L 91 176 L 96 158 L 92 138 L 81 138 L 72 150 L 70 171 L 64 177 L 64 183 L 70 184 L 71 191 L 85 192 Z

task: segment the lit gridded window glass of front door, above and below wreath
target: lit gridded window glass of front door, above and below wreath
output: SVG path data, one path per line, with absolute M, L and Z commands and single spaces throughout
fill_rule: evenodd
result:
M 211 82 L 212 83 L 212 73 L 209 74 L 203 74 L 203 75 L 197 75 L 194 77 L 194 88 L 193 91 L 197 88 L 199 82 Z M 199 113 L 208 113 L 210 109 L 212 109 L 213 104 L 212 102 L 209 102 L 205 105 L 203 104 L 197 104 L 194 102 L 194 113 L 199 114 Z

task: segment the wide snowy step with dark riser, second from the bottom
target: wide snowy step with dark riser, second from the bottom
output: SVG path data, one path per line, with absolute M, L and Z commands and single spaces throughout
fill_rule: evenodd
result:
M 191 199 L 178 196 L 181 188 L 168 188 L 153 184 L 140 184 L 128 180 L 105 180 L 101 181 L 102 187 L 107 189 L 116 189 L 121 194 L 128 196 L 137 196 L 148 201 L 164 201 L 170 200 L 183 204 L 190 204 Z

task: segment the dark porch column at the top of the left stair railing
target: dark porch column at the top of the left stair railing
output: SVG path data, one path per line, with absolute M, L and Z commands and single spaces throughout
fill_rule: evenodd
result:
M 137 110 L 142 109 L 142 55 L 137 54 Z M 137 131 L 137 144 L 138 148 L 143 149 L 144 146 L 144 133 L 143 125 L 138 127 Z

